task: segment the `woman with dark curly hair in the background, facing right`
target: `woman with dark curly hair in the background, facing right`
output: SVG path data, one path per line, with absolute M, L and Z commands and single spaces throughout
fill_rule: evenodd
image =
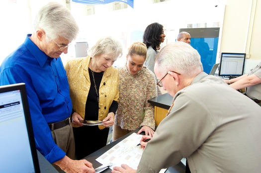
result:
M 161 43 L 164 42 L 166 35 L 164 34 L 163 25 L 160 23 L 152 23 L 147 26 L 143 34 L 143 43 L 147 46 L 147 59 L 144 65 L 154 73 L 154 63 Z M 154 73 L 155 74 L 155 73 Z M 157 78 L 155 78 L 157 79 Z M 157 86 L 158 95 L 161 95 L 160 87 Z

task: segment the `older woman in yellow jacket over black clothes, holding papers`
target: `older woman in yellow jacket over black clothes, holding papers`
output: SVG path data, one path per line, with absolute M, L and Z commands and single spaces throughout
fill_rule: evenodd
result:
M 107 143 L 109 127 L 118 108 L 119 73 L 113 63 L 122 56 L 121 43 L 103 37 L 86 58 L 68 60 L 65 70 L 73 102 L 73 131 L 76 159 L 83 159 Z M 102 125 L 87 126 L 82 120 L 101 120 Z

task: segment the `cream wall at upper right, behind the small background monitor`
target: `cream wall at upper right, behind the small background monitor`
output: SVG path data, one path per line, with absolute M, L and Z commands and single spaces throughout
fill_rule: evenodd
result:
M 220 52 L 246 52 L 245 73 L 261 61 L 261 0 L 227 0 Z

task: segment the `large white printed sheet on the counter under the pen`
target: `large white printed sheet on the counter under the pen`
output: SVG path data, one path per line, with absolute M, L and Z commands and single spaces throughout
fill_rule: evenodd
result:
M 137 169 L 141 160 L 143 149 L 137 144 L 140 143 L 142 135 L 132 133 L 127 138 L 120 141 L 110 150 L 96 159 L 102 165 L 112 163 L 110 169 L 113 167 L 120 167 L 121 164 L 127 164 L 133 169 Z M 160 173 L 165 173 L 167 169 L 163 169 Z

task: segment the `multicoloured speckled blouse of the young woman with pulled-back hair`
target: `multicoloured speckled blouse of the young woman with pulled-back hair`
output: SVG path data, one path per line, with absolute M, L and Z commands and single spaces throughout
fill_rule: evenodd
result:
M 144 125 L 155 129 L 154 106 L 148 103 L 157 96 L 154 74 L 145 66 L 136 75 L 130 74 L 127 64 L 118 70 L 119 104 L 115 124 L 127 130 Z

